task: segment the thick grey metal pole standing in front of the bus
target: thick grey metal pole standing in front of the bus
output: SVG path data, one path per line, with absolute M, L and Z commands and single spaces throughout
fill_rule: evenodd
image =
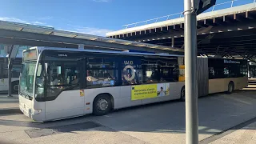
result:
M 197 17 L 184 0 L 186 144 L 198 144 Z

